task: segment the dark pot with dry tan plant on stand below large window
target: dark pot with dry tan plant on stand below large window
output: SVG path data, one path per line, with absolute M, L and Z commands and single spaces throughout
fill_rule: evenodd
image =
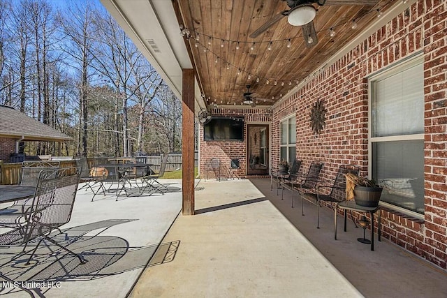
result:
M 346 183 L 354 185 L 353 193 L 356 204 L 363 207 L 377 207 L 383 188 L 374 179 L 346 174 Z

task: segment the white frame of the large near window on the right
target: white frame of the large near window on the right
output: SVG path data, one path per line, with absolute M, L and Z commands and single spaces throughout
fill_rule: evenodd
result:
M 371 174 L 373 172 L 373 143 L 374 142 L 391 142 L 391 141 L 407 141 L 407 140 L 424 140 L 424 133 L 411 134 L 411 135 L 395 135 L 395 136 L 386 136 L 386 137 L 372 137 L 372 102 L 374 100 L 374 82 L 376 80 L 380 80 L 383 77 L 390 77 L 391 75 L 395 75 L 397 73 L 402 73 L 402 71 L 411 68 L 413 66 L 417 66 L 418 64 L 423 64 L 424 57 L 423 54 L 418 53 L 414 56 L 411 56 L 400 63 L 397 63 L 389 68 L 384 68 L 380 70 L 379 73 L 375 73 L 368 77 L 368 172 L 369 179 L 372 179 Z M 390 204 L 388 202 L 380 202 L 381 206 L 387 207 L 389 209 L 393 209 L 395 211 L 399 211 L 402 214 L 407 214 L 414 218 L 424 219 L 424 214 L 420 214 L 416 211 L 411 211 L 409 209 L 402 208 L 400 206 L 396 206 L 394 204 Z

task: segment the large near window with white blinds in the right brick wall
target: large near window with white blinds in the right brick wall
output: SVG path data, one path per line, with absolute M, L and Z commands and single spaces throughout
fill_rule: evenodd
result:
M 381 201 L 410 214 L 424 213 L 423 57 L 369 79 L 369 155 Z

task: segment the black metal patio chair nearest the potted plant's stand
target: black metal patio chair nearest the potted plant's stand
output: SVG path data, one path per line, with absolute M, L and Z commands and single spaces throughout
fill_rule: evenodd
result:
M 335 175 L 335 179 L 332 184 L 318 184 L 316 186 L 316 191 L 312 192 L 302 192 L 302 198 L 313 202 L 318 207 L 318 215 L 316 220 L 316 228 L 320 228 L 320 205 L 321 202 L 329 202 L 332 208 L 337 208 L 337 204 L 346 200 L 346 178 L 345 175 L 348 173 L 357 175 L 359 171 L 356 165 L 340 165 Z M 328 192 L 328 190 L 330 190 Z M 326 191 L 324 193 L 323 191 Z

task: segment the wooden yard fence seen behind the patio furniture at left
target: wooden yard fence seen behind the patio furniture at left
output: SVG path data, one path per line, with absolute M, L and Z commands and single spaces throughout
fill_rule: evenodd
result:
M 160 170 L 161 159 L 163 154 L 158 156 L 139 156 L 136 159 L 143 163 L 150 163 L 154 165 L 152 170 L 158 172 Z M 94 165 L 94 158 L 87 158 L 89 166 Z M 194 154 L 194 165 L 198 166 L 198 152 Z M 76 162 L 61 161 L 61 167 L 75 167 Z M 3 163 L 0 161 L 0 184 L 18 184 L 20 181 L 20 169 L 22 163 Z M 170 153 L 168 154 L 168 162 L 166 163 L 166 172 L 178 170 L 182 168 L 182 154 Z

